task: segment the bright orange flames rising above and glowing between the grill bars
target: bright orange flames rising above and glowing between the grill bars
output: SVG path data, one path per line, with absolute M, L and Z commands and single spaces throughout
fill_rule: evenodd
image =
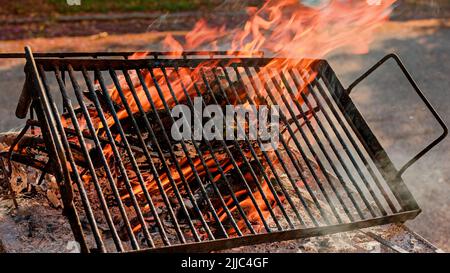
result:
M 173 51 L 174 55 L 179 56 L 186 50 L 226 48 L 229 52 L 264 51 L 266 55 L 273 57 L 290 58 L 291 61 L 274 60 L 270 62 L 259 72 L 261 75 L 258 76 L 261 77 L 271 69 L 284 71 L 292 66 L 301 66 L 307 69 L 310 63 L 308 61 L 300 62 L 300 59 L 321 59 L 338 49 L 345 49 L 358 54 L 367 52 L 374 30 L 388 20 L 391 6 L 395 0 L 331 0 L 318 7 L 302 4 L 303 2 L 306 1 L 266 1 L 260 8 L 251 7 L 247 9 L 249 19 L 240 29 L 229 29 L 226 25 L 210 26 L 205 20 L 201 20 L 182 39 L 168 35 L 162 43 L 167 51 Z M 146 54 L 135 54 L 130 59 L 139 59 L 145 56 Z M 165 109 L 158 91 L 162 92 L 164 99 L 167 100 L 168 107 L 173 107 L 175 101 L 172 98 L 171 91 L 179 101 L 185 101 L 185 91 L 190 97 L 195 96 L 194 83 L 202 81 L 202 68 L 214 66 L 215 61 L 205 61 L 193 70 L 179 69 L 175 71 L 174 69 L 168 69 L 163 71 L 158 68 L 153 69 L 153 73 L 150 73 L 149 70 L 140 70 L 138 72 L 141 73 L 142 77 L 139 77 L 136 71 L 132 71 L 129 72 L 129 80 L 133 88 L 130 88 L 126 78 L 121 75 L 119 76 L 119 86 L 113 84 L 103 91 L 108 92 L 111 100 L 119 107 L 117 116 L 122 120 L 128 117 L 128 113 L 120 93 L 125 97 L 133 114 L 139 113 L 139 107 L 133 95 L 139 99 L 145 112 L 152 111 L 153 107 L 150 101 L 153 102 L 157 110 Z M 313 77 L 310 75 L 307 81 L 312 81 Z M 141 80 L 143 80 L 145 86 L 141 83 Z M 134 92 L 135 94 L 133 94 Z M 303 102 L 300 96 L 298 96 L 298 100 L 300 103 Z M 91 115 L 95 123 L 94 126 L 101 133 L 104 125 L 100 122 L 95 111 L 92 111 Z M 106 118 L 106 125 L 112 127 L 115 124 L 113 117 L 106 114 Z M 63 116 L 62 120 L 66 127 L 72 127 L 70 119 Z M 79 118 L 79 123 L 85 130 L 86 122 L 82 117 Z M 119 142 L 120 139 L 117 139 L 117 141 Z M 106 145 L 103 152 L 106 158 L 112 157 L 110 145 Z M 214 180 L 211 183 L 217 183 L 221 179 L 221 174 L 218 172 L 216 163 L 211 158 L 211 154 L 206 153 L 204 158 L 207 167 L 214 175 Z M 218 158 L 225 173 L 233 170 L 234 167 L 227 156 L 218 155 Z M 250 156 L 249 159 L 251 159 Z M 201 179 L 206 179 L 207 172 L 201 164 L 200 158 L 193 157 L 192 161 Z M 243 162 L 240 161 L 239 164 L 243 164 Z M 170 175 L 176 185 L 182 187 L 181 175 L 184 175 L 189 183 L 193 183 L 195 176 L 187 159 L 180 160 L 179 165 L 182 173 L 178 173 L 173 166 L 170 166 Z M 126 167 L 130 173 L 129 176 L 132 178 L 134 194 L 142 196 L 144 189 L 140 187 L 131 165 Z M 149 193 L 157 194 L 159 189 L 156 178 L 151 173 L 144 173 L 143 175 Z M 166 193 L 173 193 L 174 189 L 170 183 L 169 174 L 162 172 L 159 179 Z M 265 181 L 253 181 L 253 178 L 247 174 L 245 180 L 248 183 L 259 183 L 262 192 L 269 199 L 270 206 L 272 208 L 276 206 L 275 198 Z M 235 195 L 240 201 L 239 206 L 246 212 L 249 221 L 251 223 L 260 222 L 260 215 L 256 212 L 255 204 L 249 197 L 250 193 L 245 189 L 239 189 L 235 192 Z M 270 207 L 264 202 L 262 193 L 256 191 L 253 195 L 257 206 L 263 211 L 263 218 L 268 218 Z M 124 193 L 122 198 L 127 200 L 130 195 Z M 230 196 L 225 196 L 225 202 L 231 212 L 237 210 L 238 204 L 235 204 Z M 216 209 L 219 219 L 225 222 L 228 215 L 224 208 L 218 207 Z M 245 223 L 242 219 L 237 222 L 240 229 L 245 229 Z M 140 226 L 136 226 L 134 229 L 138 231 Z M 232 235 L 234 231 L 230 230 L 229 232 Z

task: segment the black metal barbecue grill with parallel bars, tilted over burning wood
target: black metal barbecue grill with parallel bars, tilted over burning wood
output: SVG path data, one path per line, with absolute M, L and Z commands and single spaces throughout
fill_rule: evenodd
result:
M 205 252 L 404 222 L 420 213 L 401 176 L 444 139 L 448 130 L 396 55 L 384 57 L 347 89 L 325 60 L 298 60 L 296 65 L 282 70 L 267 69 L 263 74 L 261 68 L 267 64 L 286 59 L 245 52 L 158 52 L 129 59 L 131 55 L 128 52 L 33 55 L 26 48 L 24 55 L 1 56 L 26 58 L 26 82 L 16 115 L 26 118 L 30 114 L 26 127 L 3 156 L 56 177 L 64 214 L 84 252 Z M 443 129 L 437 139 L 399 169 L 349 96 L 356 85 L 390 59 L 399 65 Z M 255 103 L 255 98 L 263 97 L 280 105 L 283 110 L 279 118 L 285 127 L 279 150 L 272 154 L 260 151 L 262 142 L 259 139 L 251 142 L 248 138 L 239 142 L 204 141 L 203 148 L 196 141 L 175 145 L 164 126 L 167 120 L 173 122 L 170 115 L 164 115 L 170 112 L 169 101 L 189 107 L 193 102 L 188 84 L 182 80 L 183 93 L 175 94 L 172 86 L 175 80 L 169 73 L 179 76 L 179 80 L 181 70 L 192 72 L 199 66 L 202 66 L 197 72 L 199 77 L 190 79 L 198 96 L 208 96 L 217 103 L 219 99 L 228 103 L 231 100 Z M 157 79 L 156 70 L 162 80 Z M 148 73 L 160 97 L 160 108 L 150 94 L 143 71 Z M 130 75 L 135 76 L 138 85 Z M 56 83 L 56 88 L 51 82 Z M 117 105 L 107 92 L 109 84 L 115 86 L 122 105 Z M 141 87 L 144 97 L 136 91 Z M 134 106 L 127 100 L 127 94 L 133 98 Z M 58 105 L 57 97 L 62 106 Z M 151 117 L 144 103 L 149 104 Z M 133 112 L 132 107 L 137 110 Z M 120 111 L 127 113 L 126 119 L 120 118 Z M 93 112 L 103 124 L 101 134 L 91 120 Z M 71 126 L 62 121 L 64 115 Z M 108 126 L 109 118 L 114 121 L 113 127 Z M 46 162 L 25 157 L 14 149 L 30 128 L 42 136 L 41 152 L 48 155 Z M 160 131 L 156 132 L 158 128 Z M 105 156 L 106 145 L 112 151 L 113 164 Z M 240 205 L 238 194 L 227 181 L 231 177 L 219 163 L 217 149 L 229 160 L 256 216 L 249 217 L 249 212 Z M 189 177 L 183 172 L 179 154 L 192 170 Z M 79 162 L 84 162 L 83 167 Z M 202 166 L 202 174 L 198 166 Z M 157 193 L 148 191 L 143 168 L 154 178 Z M 99 169 L 106 182 L 100 181 L 103 178 L 99 177 Z M 90 174 L 89 181 L 83 179 L 86 173 Z M 247 174 L 258 177 L 252 180 L 256 183 L 249 183 Z M 217 175 L 222 178 L 223 187 L 211 183 Z M 128 196 L 127 204 L 117 177 Z M 171 196 L 162 185 L 164 177 L 173 190 Z M 177 178 L 179 183 L 175 182 Z M 132 179 L 137 181 L 136 185 Z M 95 196 L 88 193 L 89 187 L 94 188 Z M 140 188 L 141 198 L 133 191 L 135 187 Z M 166 209 L 164 219 L 156 202 Z M 129 208 L 133 209 L 132 214 Z M 99 224 L 100 218 L 107 226 L 107 235 L 105 227 Z

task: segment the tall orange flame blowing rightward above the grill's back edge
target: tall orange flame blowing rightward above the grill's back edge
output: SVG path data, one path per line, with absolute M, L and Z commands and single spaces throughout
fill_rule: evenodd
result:
M 305 1 L 306 2 L 306 1 Z M 365 53 L 374 30 L 388 20 L 395 0 L 331 0 L 312 8 L 301 0 L 269 0 L 248 8 L 249 19 L 241 29 L 211 27 L 199 21 L 184 37 L 170 35 L 169 50 L 214 49 L 217 41 L 231 51 L 265 51 L 289 58 L 323 58 L 338 48 Z

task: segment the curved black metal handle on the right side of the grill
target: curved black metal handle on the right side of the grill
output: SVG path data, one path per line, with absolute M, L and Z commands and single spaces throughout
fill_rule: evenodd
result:
M 436 146 L 439 142 L 441 142 L 448 135 L 448 128 L 445 125 L 445 123 L 442 120 L 442 118 L 436 112 L 434 107 L 431 105 L 431 103 L 425 97 L 425 95 L 423 94 L 422 90 L 420 90 L 420 88 L 417 86 L 416 82 L 411 77 L 411 74 L 409 74 L 409 72 L 406 69 L 406 67 L 403 64 L 403 62 L 400 60 L 400 58 L 397 55 L 395 55 L 393 53 L 386 55 L 378 63 L 376 63 L 369 70 L 367 70 L 366 73 L 364 73 L 361 77 L 359 77 L 352 84 L 350 84 L 349 87 L 347 88 L 347 93 L 350 95 L 350 92 L 353 90 L 353 88 L 355 86 L 357 86 L 361 81 L 363 81 L 365 78 L 367 78 L 370 74 L 372 74 L 376 69 L 378 69 L 381 65 L 383 65 L 389 59 L 394 59 L 395 60 L 395 62 L 397 63 L 397 65 L 400 67 L 400 69 L 402 70 L 403 74 L 405 75 L 405 77 L 408 79 L 408 81 L 411 84 L 411 86 L 416 91 L 417 95 L 422 99 L 422 101 L 427 106 L 428 110 L 430 110 L 431 114 L 434 116 L 436 121 L 439 123 L 439 125 L 443 129 L 443 133 L 438 138 L 436 138 L 433 142 L 428 144 L 428 146 L 426 146 L 423 150 L 421 150 L 419 153 L 417 153 L 413 158 L 411 158 L 408 162 L 406 162 L 405 165 L 403 165 L 403 167 L 400 168 L 400 170 L 397 172 L 397 175 L 401 176 L 409 167 L 411 167 L 412 164 L 416 163 L 422 156 L 424 156 L 427 152 L 429 152 L 434 146 Z

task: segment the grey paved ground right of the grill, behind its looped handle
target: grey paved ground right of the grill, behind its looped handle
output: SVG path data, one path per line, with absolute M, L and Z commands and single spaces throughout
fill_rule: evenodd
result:
M 339 54 L 330 60 L 348 86 L 365 69 L 394 52 L 450 125 L 450 28 L 434 21 L 390 24 L 368 55 Z M 442 24 L 441 24 L 442 25 Z M 397 166 L 402 166 L 442 132 L 414 90 L 393 65 L 352 91 L 371 128 Z M 435 147 L 403 176 L 423 212 L 408 226 L 450 251 L 450 138 Z

